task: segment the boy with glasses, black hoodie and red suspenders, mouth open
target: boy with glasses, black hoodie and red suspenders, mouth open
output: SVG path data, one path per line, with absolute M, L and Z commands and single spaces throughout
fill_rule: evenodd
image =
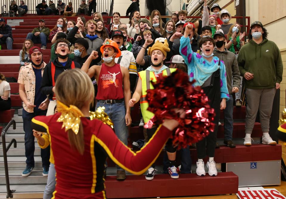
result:
M 54 114 L 54 108 L 56 105 L 54 92 L 55 92 L 55 81 L 59 74 L 65 70 L 81 68 L 77 63 L 69 59 L 69 41 L 66 39 L 58 39 L 55 42 L 55 53 L 58 56 L 54 61 L 49 62 L 43 73 L 41 81 L 41 93 L 49 96 L 49 107 L 47 116 Z M 52 76 L 52 68 L 55 70 L 55 75 Z

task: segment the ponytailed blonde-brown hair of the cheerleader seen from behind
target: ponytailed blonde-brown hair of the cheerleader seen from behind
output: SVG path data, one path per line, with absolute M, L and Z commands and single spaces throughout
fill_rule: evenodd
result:
M 69 85 L 69 86 L 67 86 Z M 81 109 L 90 99 L 94 99 L 94 88 L 89 76 L 82 70 L 75 68 L 62 72 L 55 83 L 55 95 L 57 100 L 66 106 L 74 105 Z M 81 155 L 84 154 L 84 129 L 79 125 L 78 134 L 72 129 L 67 131 L 69 144 Z

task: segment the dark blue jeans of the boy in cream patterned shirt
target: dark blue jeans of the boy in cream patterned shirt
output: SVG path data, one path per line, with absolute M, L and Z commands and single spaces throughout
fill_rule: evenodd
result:
M 47 110 L 40 110 L 34 108 L 34 113 L 28 113 L 23 109 L 22 117 L 23 117 L 23 127 L 25 131 L 25 156 L 27 158 L 26 164 L 27 167 L 35 166 L 34 152 L 35 152 L 35 137 L 33 135 L 33 129 L 31 127 L 31 120 L 35 116 L 45 116 L 47 114 Z M 50 166 L 50 146 L 46 149 L 41 149 L 41 158 L 43 167 Z

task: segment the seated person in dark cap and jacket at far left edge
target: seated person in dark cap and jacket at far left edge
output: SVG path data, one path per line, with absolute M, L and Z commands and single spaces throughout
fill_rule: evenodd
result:
M 12 50 L 13 37 L 12 28 L 5 23 L 4 18 L 0 18 L 0 44 L 7 44 L 7 49 Z

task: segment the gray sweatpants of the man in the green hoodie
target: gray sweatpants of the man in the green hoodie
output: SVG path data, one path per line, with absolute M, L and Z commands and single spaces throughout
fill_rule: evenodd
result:
M 245 133 L 251 134 L 259 109 L 262 132 L 269 132 L 269 119 L 276 89 L 246 89 L 247 101 L 245 117 Z

